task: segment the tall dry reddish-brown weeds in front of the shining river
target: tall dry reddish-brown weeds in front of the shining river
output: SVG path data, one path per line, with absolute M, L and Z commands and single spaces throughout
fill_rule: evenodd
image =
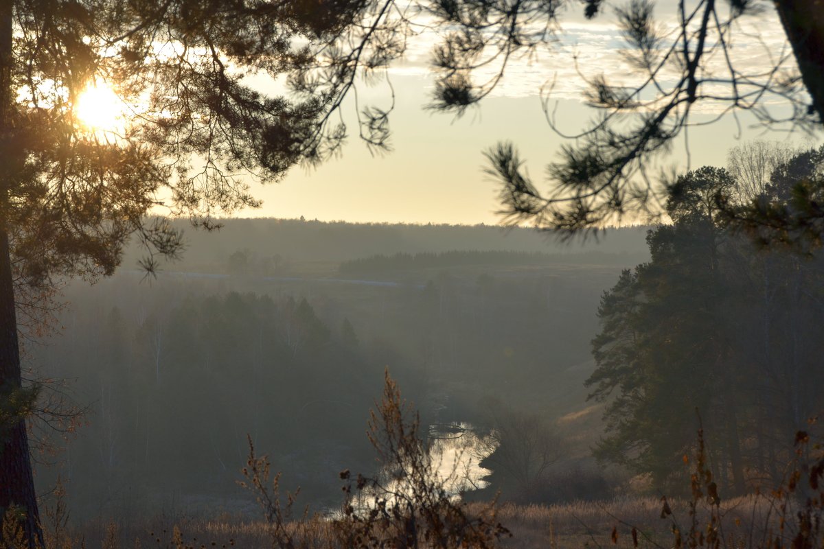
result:
M 272 547 L 495 547 L 509 532 L 497 520 L 494 502 L 472 513 L 447 492 L 419 438 L 419 416 L 400 398 L 386 374 L 382 401 L 369 419 L 368 436 L 382 463 L 376 477 L 340 473 L 344 502 L 339 514 L 324 523 L 304 512 L 293 519 L 294 495 L 285 503 L 279 476 L 269 482 L 269 461 L 255 456 L 250 443 L 245 486 L 262 505 Z

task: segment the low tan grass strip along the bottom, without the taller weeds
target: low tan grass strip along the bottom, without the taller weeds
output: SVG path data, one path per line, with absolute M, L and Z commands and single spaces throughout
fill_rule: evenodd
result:
M 634 548 L 631 534 L 637 531 L 638 547 L 675 547 L 672 517 L 686 530 L 691 517 L 688 501 L 669 501 L 672 516 L 661 518 L 662 501 L 656 498 L 624 498 L 603 502 L 575 502 L 566 505 L 499 505 L 497 519 L 511 537 L 501 537 L 500 547 L 522 549 L 582 549 L 583 547 Z M 763 547 L 764 524 L 770 514 L 769 501 L 749 496 L 730 500 L 723 505 L 720 530 L 723 543 L 719 547 Z M 467 514 L 488 509 L 485 504 L 472 504 Z M 709 522 L 710 509 L 699 509 L 696 520 Z M 293 533 L 301 532 L 296 547 L 346 547 L 335 531 L 335 523 L 322 517 L 287 523 Z M 616 538 L 613 540 L 613 528 Z M 80 528 L 67 528 L 55 537 L 47 528 L 49 549 L 126 549 L 173 547 L 183 549 L 271 549 L 274 527 L 263 520 L 255 521 L 224 515 L 217 519 L 177 519 L 157 517 L 145 521 L 99 519 Z M 685 541 L 685 545 L 688 545 Z M 389 546 L 395 547 L 395 546 Z M 426 547 L 421 545 L 419 547 Z

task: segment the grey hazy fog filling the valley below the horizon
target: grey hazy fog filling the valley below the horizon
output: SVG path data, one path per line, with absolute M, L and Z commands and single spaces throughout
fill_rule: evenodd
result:
M 59 475 L 76 519 L 255 514 L 236 485 L 248 436 L 284 488 L 330 509 L 339 471 L 378 468 L 365 431 L 385 370 L 446 448 L 456 491 L 524 496 L 479 463 L 496 421 L 531 415 L 564 440 L 553 471 L 592 468 L 594 439 L 574 432 L 598 420 L 583 388 L 598 300 L 648 258 L 645 233 L 559 244 L 489 226 L 237 220 L 187 230 L 154 277 L 134 247 L 114 277 L 64 286 L 53 333 L 26 344 L 50 412 L 77 412 L 46 415 L 71 433 L 38 424 L 54 463 L 39 486 Z

